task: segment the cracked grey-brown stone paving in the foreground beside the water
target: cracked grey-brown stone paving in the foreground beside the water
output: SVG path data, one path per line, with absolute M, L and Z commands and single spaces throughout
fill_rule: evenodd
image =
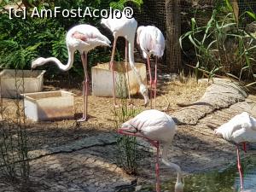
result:
M 231 143 L 213 135 L 218 127 L 237 113 L 247 111 L 256 116 L 256 99 L 252 96 L 230 104 L 229 107 L 207 113 L 196 125 L 179 125 L 169 160 L 181 166 L 184 174 L 222 169 L 236 162 L 236 151 Z M 194 119 L 195 120 L 195 119 Z M 154 184 L 154 152 L 148 143 L 139 139 L 137 176 L 129 176 L 117 166 L 116 134 L 100 133 L 58 147 L 29 152 L 31 186 L 37 192 L 117 192 L 119 186 Z M 250 155 L 250 153 L 246 154 Z M 176 173 L 160 166 L 161 180 L 175 181 Z M 0 178 L 1 192 L 18 192 L 15 184 Z M 134 191 L 131 190 L 131 191 Z M 29 191 L 27 191 L 29 192 Z

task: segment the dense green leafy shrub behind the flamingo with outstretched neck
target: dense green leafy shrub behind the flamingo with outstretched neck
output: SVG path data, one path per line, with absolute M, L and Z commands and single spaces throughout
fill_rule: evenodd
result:
M 0 8 L 8 3 L 18 2 L 20 1 L 3 0 L 0 3 Z M 43 3 L 37 0 L 24 0 L 22 2 L 27 6 L 26 9 L 32 9 L 34 6 L 37 6 L 38 9 L 54 9 L 54 7 L 61 7 L 61 9 L 85 9 L 86 7 L 90 7 L 90 9 L 109 9 L 109 3 L 112 1 L 57 0 L 53 2 L 46 0 Z M 129 1 L 119 1 L 112 4 L 120 7 L 126 2 Z M 142 0 L 131 2 L 140 4 Z M 29 69 L 31 61 L 38 56 L 55 56 L 65 63 L 67 61 L 65 43 L 67 30 L 82 23 L 88 23 L 101 29 L 100 19 L 90 17 L 63 18 L 61 16 L 56 18 L 31 18 L 27 16 L 26 20 L 20 18 L 9 20 L 8 14 L 0 12 L 0 67 Z M 110 33 L 109 35 L 112 37 Z M 107 61 L 110 61 L 110 49 L 97 48 L 90 51 L 90 67 L 96 62 Z M 80 62 L 79 54 L 76 54 L 74 63 Z M 49 65 L 47 67 L 53 66 Z M 56 69 L 56 67 L 53 68 Z M 55 70 L 56 72 L 59 72 L 59 70 Z M 82 65 L 74 65 L 73 72 L 83 74 Z

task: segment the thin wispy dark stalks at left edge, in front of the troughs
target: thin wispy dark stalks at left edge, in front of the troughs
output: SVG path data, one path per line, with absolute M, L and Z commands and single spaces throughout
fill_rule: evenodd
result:
M 24 90 L 24 79 L 16 79 L 16 96 Z M 26 188 L 29 181 L 30 166 L 28 161 L 26 118 L 24 108 L 20 106 L 20 100 L 15 102 L 15 117 L 9 118 L 9 113 L 3 108 L 1 98 L 0 122 L 0 169 L 12 182 L 18 183 L 21 188 Z M 23 100 L 21 100 L 23 102 Z M 5 114 L 7 113 L 7 114 Z M 2 175 L 1 175 L 2 176 Z

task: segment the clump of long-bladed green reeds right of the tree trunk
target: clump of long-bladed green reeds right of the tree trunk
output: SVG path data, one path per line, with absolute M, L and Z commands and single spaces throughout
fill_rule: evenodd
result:
M 186 39 L 195 48 L 196 77 L 200 71 L 205 71 L 209 78 L 226 74 L 239 80 L 254 80 L 255 39 L 237 26 L 233 13 L 218 17 L 217 10 L 213 10 L 206 26 L 197 26 L 195 18 L 192 18 L 191 31 L 181 36 L 180 44 L 183 48 Z

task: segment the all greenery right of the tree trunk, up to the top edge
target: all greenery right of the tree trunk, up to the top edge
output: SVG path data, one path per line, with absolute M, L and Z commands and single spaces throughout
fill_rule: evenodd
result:
M 195 9 L 190 30 L 184 32 L 180 44 L 197 77 L 228 76 L 254 84 L 256 17 L 250 3 L 240 1 L 239 15 L 238 9 L 231 1 L 218 1 L 206 23 L 201 23 L 200 16 L 206 13 Z

